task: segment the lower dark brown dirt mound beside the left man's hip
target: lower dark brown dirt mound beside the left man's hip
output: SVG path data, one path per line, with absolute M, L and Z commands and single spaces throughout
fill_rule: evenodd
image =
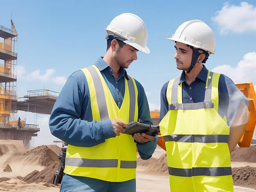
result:
M 58 169 L 59 162 L 53 161 L 48 167 L 42 171 L 34 170 L 30 174 L 23 177 L 22 181 L 26 183 L 52 183 L 55 171 Z

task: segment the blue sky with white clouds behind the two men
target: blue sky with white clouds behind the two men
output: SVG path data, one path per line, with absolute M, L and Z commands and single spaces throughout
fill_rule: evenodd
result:
M 178 76 L 174 43 L 166 40 L 187 20 L 203 20 L 215 33 L 216 53 L 208 69 L 226 74 L 235 83 L 253 82 L 256 88 L 256 2 L 130 0 L 0 0 L 0 25 L 18 32 L 17 93 L 49 89 L 60 92 L 72 72 L 92 65 L 106 51 L 106 31 L 121 13 L 135 13 L 146 23 L 150 54 L 138 53 L 128 73 L 146 91 L 150 109 L 159 109 L 160 89 Z M 0 38 L 1 41 L 1 38 Z M 0 60 L 0 63 L 3 63 Z M 19 112 L 27 123 L 39 124 L 34 145 L 51 144 L 48 115 Z

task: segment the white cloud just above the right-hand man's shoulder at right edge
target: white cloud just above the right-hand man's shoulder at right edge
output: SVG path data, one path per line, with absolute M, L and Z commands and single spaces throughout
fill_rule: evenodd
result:
M 212 71 L 225 74 L 234 83 L 252 82 L 256 85 L 256 52 L 245 54 L 243 60 L 240 60 L 236 67 L 220 65 L 212 69 Z

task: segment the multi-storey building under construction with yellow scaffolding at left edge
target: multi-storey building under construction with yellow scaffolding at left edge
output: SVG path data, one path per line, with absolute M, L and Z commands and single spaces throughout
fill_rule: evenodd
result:
M 22 140 L 29 148 L 31 137 L 40 131 L 38 125 L 17 120 L 17 94 L 14 74 L 17 65 L 17 31 L 11 20 L 11 29 L 0 25 L 0 139 Z

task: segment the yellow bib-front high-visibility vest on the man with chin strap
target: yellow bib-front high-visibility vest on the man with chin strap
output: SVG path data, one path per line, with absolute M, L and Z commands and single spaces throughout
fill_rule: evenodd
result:
M 229 126 L 218 114 L 220 74 L 208 72 L 204 101 L 182 103 L 180 76 L 168 83 L 166 141 L 171 192 L 232 192 Z

